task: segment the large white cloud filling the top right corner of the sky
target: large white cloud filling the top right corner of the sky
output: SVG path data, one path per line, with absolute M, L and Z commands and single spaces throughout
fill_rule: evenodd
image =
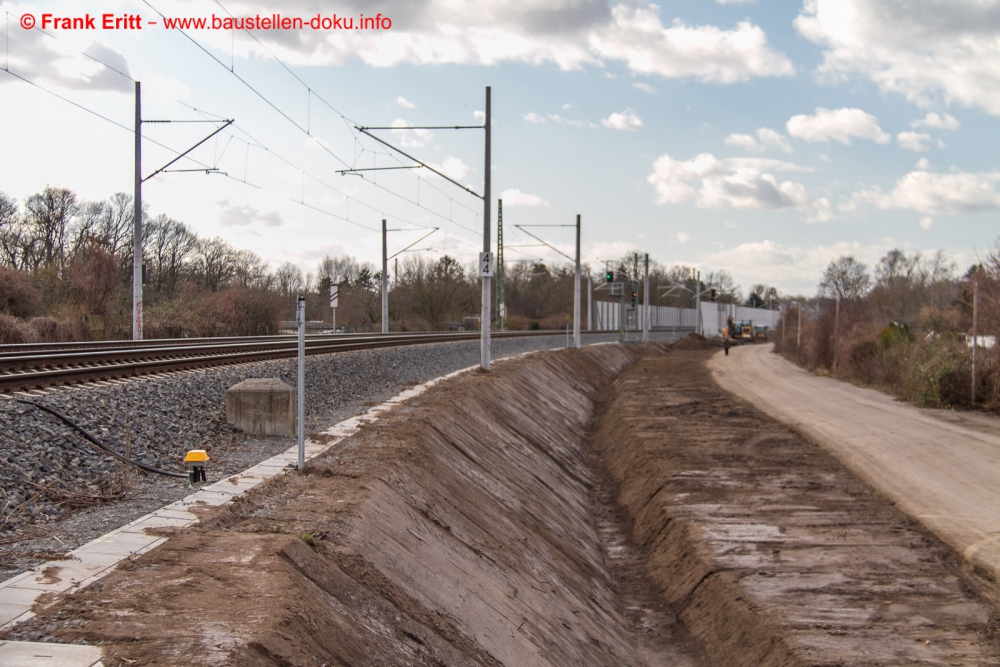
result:
M 819 75 L 857 73 L 923 106 L 1000 115 L 996 2 L 805 0 L 795 27 L 821 45 Z

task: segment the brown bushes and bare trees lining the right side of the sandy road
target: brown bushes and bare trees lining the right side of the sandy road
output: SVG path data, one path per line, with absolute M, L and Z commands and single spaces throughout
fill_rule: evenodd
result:
M 871 270 L 843 256 L 788 304 L 779 352 L 932 407 L 972 406 L 975 315 L 977 407 L 1000 411 L 1000 239 L 961 272 L 942 251 L 891 250 Z

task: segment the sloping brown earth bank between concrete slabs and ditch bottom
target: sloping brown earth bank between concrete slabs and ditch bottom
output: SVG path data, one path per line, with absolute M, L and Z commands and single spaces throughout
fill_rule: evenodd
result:
M 633 361 L 592 346 L 445 383 L 15 635 L 116 667 L 701 664 L 587 452 Z

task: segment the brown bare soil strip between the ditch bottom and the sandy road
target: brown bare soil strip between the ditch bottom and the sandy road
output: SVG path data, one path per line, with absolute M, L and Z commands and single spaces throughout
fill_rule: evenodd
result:
M 595 442 L 660 594 L 713 664 L 1000 664 L 992 584 L 720 390 L 709 356 L 641 359 L 607 392 Z

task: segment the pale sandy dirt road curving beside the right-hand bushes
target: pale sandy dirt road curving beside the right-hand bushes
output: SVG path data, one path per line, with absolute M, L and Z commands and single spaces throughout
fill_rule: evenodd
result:
M 923 410 L 817 377 L 770 345 L 719 353 L 709 367 L 721 386 L 825 445 L 1000 581 L 1000 419 Z

